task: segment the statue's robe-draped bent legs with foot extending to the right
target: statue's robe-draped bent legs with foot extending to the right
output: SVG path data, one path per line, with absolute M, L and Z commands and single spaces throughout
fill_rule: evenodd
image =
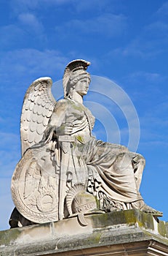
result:
M 103 210 L 135 208 L 161 216 L 161 212 L 144 203 L 139 192 L 145 159 L 122 146 L 95 140 L 93 142 L 84 149 L 86 152 L 92 152 L 87 154 L 86 162 L 95 169 L 92 180 L 96 178 L 99 181 L 98 190 L 102 195 L 100 199 L 103 202 Z

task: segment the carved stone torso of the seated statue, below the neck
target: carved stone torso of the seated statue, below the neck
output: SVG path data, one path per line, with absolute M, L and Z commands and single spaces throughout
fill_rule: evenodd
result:
M 49 127 L 55 127 L 55 135 L 73 135 L 79 143 L 90 140 L 95 117 L 79 102 L 62 99 L 57 102 L 49 120 Z

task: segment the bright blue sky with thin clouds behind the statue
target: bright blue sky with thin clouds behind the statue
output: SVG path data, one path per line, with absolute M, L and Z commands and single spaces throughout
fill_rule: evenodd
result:
M 135 106 L 140 121 L 137 151 L 146 159 L 140 192 L 168 221 L 168 1 L 1 0 L 0 14 L 0 230 L 9 228 L 13 208 L 10 181 L 20 159 L 25 91 L 36 78 L 62 79 L 73 59 L 90 61 L 89 72 L 113 80 Z M 120 129 L 120 141 L 127 146 L 127 117 L 111 101 L 105 81 L 98 93 L 91 83 L 86 100 L 100 102 L 95 105 L 100 113 L 110 111 L 115 119 L 111 124 Z M 106 123 L 98 119 L 94 132 L 105 140 Z M 138 135 L 136 129 L 132 135 Z

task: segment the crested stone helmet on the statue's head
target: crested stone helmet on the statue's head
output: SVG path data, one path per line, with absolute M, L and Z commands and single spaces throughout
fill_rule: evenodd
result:
M 75 90 L 76 84 L 80 80 L 87 80 L 88 84 L 90 83 L 90 75 L 86 71 L 89 66 L 88 61 L 82 59 L 76 59 L 71 61 L 65 68 L 63 76 L 63 89 L 64 97 L 70 97 L 71 92 Z

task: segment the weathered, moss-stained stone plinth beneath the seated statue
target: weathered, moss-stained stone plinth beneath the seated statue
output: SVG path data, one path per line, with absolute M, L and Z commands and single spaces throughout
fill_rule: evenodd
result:
M 1 256 L 168 255 L 168 222 L 138 210 L 77 217 L 0 232 Z

